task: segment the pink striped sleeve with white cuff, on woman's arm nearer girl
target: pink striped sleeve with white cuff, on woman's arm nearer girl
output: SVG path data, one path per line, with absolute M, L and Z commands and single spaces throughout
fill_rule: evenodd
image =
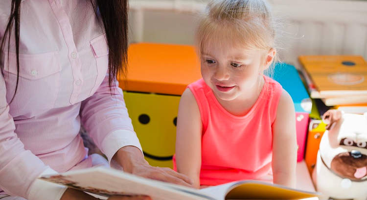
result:
M 112 157 L 121 147 L 136 146 L 141 150 L 141 146 L 129 118 L 122 90 L 116 80 L 110 90 L 108 78 L 106 75 L 97 91 L 82 102 L 80 115 L 83 127 L 111 164 Z

